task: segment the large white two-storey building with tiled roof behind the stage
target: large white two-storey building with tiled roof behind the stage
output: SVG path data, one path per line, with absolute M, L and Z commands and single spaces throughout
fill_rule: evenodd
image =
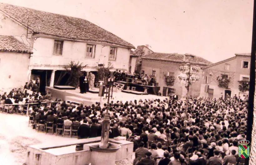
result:
M 33 52 L 25 75 L 27 81 L 40 79 L 42 89 L 55 85 L 55 73 L 71 61 L 87 65 L 83 71 L 111 62 L 113 70 L 127 72 L 135 48 L 87 20 L 5 3 L 0 3 L 0 25 L 0 35 L 14 36 Z

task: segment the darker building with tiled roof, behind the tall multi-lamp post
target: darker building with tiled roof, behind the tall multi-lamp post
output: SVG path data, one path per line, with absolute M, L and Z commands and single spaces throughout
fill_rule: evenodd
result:
M 184 95 L 184 85 L 179 81 L 178 75 L 181 73 L 179 70 L 180 66 L 190 62 L 191 67 L 205 67 L 211 62 L 194 56 L 190 59 L 191 54 L 166 54 L 166 53 L 151 53 L 142 57 L 141 73 L 144 75 L 154 75 L 156 78 L 157 85 L 160 87 L 160 92 L 163 96 L 173 94 L 174 92 L 179 96 Z M 200 71 L 198 76 L 201 79 Z M 171 76 L 174 78 L 173 84 L 166 82 L 166 77 Z M 193 82 L 189 88 L 189 95 L 199 96 L 200 93 L 200 80 Z

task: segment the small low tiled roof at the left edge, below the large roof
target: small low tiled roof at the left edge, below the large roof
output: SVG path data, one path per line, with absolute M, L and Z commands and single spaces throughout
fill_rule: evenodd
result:
M 28 46 L 7 35 L 0 35 L 0 51 L 32 53 Z

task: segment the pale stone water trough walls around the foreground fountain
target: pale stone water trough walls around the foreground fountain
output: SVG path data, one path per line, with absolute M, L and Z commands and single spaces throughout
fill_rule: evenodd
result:
M 99 144 L 101 137 L 78 139 L 67 143 L 38 144 L 27 149 L 27 165 L 85 165 L 91 162 L 89 146 Z M 109 139 L 110 142 L 121 145 L 116 152 L 116 161 L 132 159 L 133 142 Z M 75 151 L 75 146 L 83 145 L 82 151 Z

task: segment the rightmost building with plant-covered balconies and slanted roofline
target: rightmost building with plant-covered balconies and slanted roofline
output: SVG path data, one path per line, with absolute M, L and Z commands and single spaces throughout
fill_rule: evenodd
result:
M 211 64 L 203 68 L 200 96 L 209 98 L 219 98 L 221 93 L 223 98 L 233 97 L 235 94 L 243 98 L 248 95 L 248 91 L 239 90 L 238 81 L 248 82 L 250 78 L 250 54 L 235 54 L 234 57 Z M 228 79 L 227 85 L 220 84 L 219 81 Z

